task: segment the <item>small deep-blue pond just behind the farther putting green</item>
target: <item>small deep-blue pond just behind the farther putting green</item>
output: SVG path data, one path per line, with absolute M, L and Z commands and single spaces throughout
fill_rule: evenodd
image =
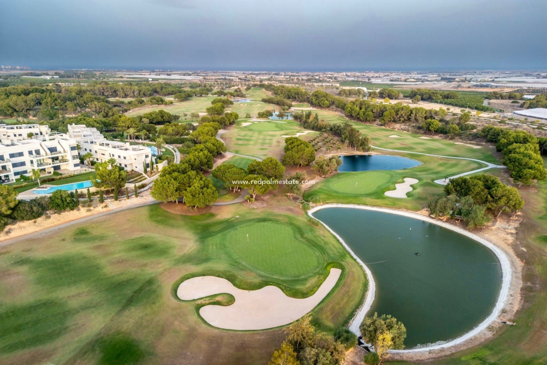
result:
M 420 161 L 392 155 L 346 155 L 341 156 L 342 166 L 338 171 L 403 170 L 420 165 Z

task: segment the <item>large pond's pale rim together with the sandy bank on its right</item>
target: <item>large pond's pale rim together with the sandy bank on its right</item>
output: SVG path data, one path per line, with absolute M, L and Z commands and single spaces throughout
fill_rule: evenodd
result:
M 501 262 L 503 282 L 502 288 L 499 293 L 498 301 L 495 308 L 483 322 L 473 328 L 468 333 L 465 333 L 461 337 L 451 340 L 447 343 L 441 343 L 433 346 L 423 347 L 420 349 L 409 350 L 392 350 L 393 360 L 426 360 L 433 357 L 439 357 L 451 354 L 452 352 L 468 349 L 469 347 L 476 346 L 486 339 L 493 337 L 496 329 L 504 326 L 499 321 L 512 321 L 513 316 L 521 305 L 520 289 L 522 287 L 522 266 L 523 263 L 517 258 L 514 252 L 514 245 L 517 244 L 515 239 L 516 227 L 520 223 L 521 218 L 508 218 L 503 217 L 497 219 L 496 224 L 491 227 L 475 230 L 477 234 L 470 233 L 468 230 L 458 227 L 455 224 L 445 223 L 439 219 L 433 219 L 427 216 L 427 211 L 410 212 L 403 210 L 394 210 L 390 208 L 378 208 L 353 204 L 328 204 L 323 206 L 316 206 L 308 211 L 310 216 L 313 216 L 313 212 L 329 207 L 329 206 L 341 206 L 341 207 L 354 207 L 365 210 L 373 211 L 385 211 L 394 213 L 397 215 L 408 216 L 416 219 L 421 219 L 429 223 L 434 223 L 443 226 L 444 228 L 451 229 L 460 234 L 468 236 L 480 244 L 487 246 L 496 254 Z M 323 223 L 323 225 L 325 225 Z M 376 292 L 376 285 L 370 269 L 351 251 L 351 249 L 345 244 L 344 240 L 331 230 L 327 225 L 325 227 L 339 241 L 346 247 L 348 252 L 363 266 L 365 273 L 369 279 L 369 288 L 366 293 L 363 305 L 358 310 L 356 316 L 353 318 L 350 329 L 354 333 L 359 332 L 359 324 L 363 321 L 366 312 L 370 309 Z

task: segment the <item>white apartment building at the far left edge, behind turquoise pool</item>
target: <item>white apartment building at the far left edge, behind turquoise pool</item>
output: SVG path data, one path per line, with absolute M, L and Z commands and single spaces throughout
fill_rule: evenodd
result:
M 34 138 L 28 138 L 29 132 Z M 33 169 L 43 173 L 73 173 L 81 169 L 78 142 L 66 135 L 52 135 L 49 126 L 0 125 L 0 181 L 14 182 Z

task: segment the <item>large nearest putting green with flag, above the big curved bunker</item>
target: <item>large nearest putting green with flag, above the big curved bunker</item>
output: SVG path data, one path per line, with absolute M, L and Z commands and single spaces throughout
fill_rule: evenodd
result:
M 319 252 L 296 228 L 280 222 L 240 224 L 206 241 L 213 247 L 224 246 L 238 263 L 267 275 L 297 278 L 323 264 Z

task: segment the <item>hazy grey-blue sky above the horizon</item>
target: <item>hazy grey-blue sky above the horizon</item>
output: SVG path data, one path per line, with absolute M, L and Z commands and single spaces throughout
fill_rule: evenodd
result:
M 1 0 L 0 64 L 547 69 L 545 0 Z

